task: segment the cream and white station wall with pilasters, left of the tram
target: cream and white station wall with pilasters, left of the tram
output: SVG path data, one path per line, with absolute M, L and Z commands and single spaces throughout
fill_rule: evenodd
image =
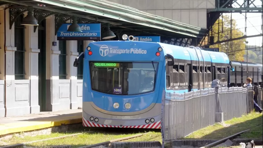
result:
M 5 7 L 4 5 L 1 7 Z M 25 13 L 26 16 L 27 13 Z M 25 17 L 24 16 L 24 17 Z M 6 28 L 4 28 L 4 22 Z M 0 118 L 4 117 L 4 86 L 6 85 L 7 117 L 40 112 L 38 76 L 38 29 L 25 26 L 25 80 L 15 80 L 15 43 L 14 24 L 9 28 L 9 10 L 0 11 Z M 4 47 L 4 32 L 6 46 Z M 52 42 L 57 42 L 56 46 Z M 66 41 L 65 80 L 59 80 L 59 41 L 55 36 L 55 17 L 46 18 L 46 109 L 59 111 L 82 107 L 82 80 L 77 80 L 77 68 L 73 62 L 78 55 L 77 41 Z M 87 41 L 84 41 L 87 46 Z M 4 64 L 4 48 L 6 64 Z M 85 49 L 86 47 L 83 47 Z M 6 75 L 4 75 L 6 68 Z M 6 83 L 4 79 L 6 78 Z

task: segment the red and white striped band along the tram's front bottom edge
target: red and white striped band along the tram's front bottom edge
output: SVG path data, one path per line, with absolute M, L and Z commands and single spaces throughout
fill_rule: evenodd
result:
M 114 126 L 114 125 L 103 125 L 90 122 L 85 118 L 82 118 L 82 124 L 86 127 L 117 127 L 117 128 L 139 128 L 139 129 L 160 129 L 161 128 L 161 121 L 145 124 L 145 125 L 134 125 L 134 126 Z

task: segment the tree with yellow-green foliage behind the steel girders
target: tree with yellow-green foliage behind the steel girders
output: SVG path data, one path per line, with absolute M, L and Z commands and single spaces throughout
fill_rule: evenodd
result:
M 230 30 L 231 30 L 230 25 L 231 25 L 230 16 L 228 15 L 224 15 L 223 19 L 222 17 L 220 17 L 215 22 L 215 24 L 213 25 L 212 32 L 210 31 L 210 35 L 214 36 L 214 42 L 227 40 L 225 38 L 226 36 L 228 36 L 228 39 L 231 37 L 230 36 Z M 237 29 L 236 21 L 232 20 L 232 39 L 242 37 L 243 35 L 244 33 L 241 30 Z M 228 54 L 229 59 L 235 60 L 235 61 L 244 60 L 245 47 L 246 47 L 245 39 L 210 45 L 210 48 L 219 48 L 220 52 L 224 52 Z

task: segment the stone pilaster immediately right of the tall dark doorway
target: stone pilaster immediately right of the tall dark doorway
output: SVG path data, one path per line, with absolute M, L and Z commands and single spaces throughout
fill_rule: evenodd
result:
M 57 45 L 53 46 L 52 42 Z M 59 105 L 59 42 L 55 35 L 55 16 L 46 18 L 46 96 L 47 111 L 57 111 Z

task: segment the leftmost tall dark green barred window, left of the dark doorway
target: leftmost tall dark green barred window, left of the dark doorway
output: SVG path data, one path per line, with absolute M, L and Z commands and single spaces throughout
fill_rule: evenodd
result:
M 23 15 L 15 21 L 15 80 L 25 79 L 25 26 L 20 25 Z

